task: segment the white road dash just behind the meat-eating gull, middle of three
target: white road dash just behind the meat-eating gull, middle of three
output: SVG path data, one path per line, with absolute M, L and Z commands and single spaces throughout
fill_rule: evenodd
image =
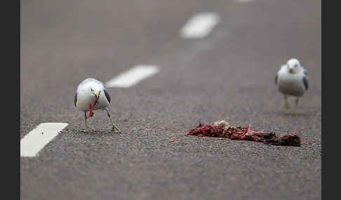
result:
M 131 87 L 141 80 L 148 78 L 149 76 L 153 76 L 158 72 L 158 66 L 138 65 L 119 74 L 116 78 L 112 78 L 112 80 L 107 81 L 105 85 L 107 85 L 107 87 Z

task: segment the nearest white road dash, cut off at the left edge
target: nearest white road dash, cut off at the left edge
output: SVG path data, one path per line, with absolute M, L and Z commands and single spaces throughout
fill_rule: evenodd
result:
M 39 124 L 20 140 L 20 156 L 35 157 L 66 126 L 67 123 Z

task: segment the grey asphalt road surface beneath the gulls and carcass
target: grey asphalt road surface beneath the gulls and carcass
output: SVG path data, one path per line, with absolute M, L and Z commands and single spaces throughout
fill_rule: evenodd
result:
M 181 38 L 201 12 L 220 23 L 206 38 Z M 21 33 L 20 138 L 44 122 L 68 125 L 20 158 L 20 199 L 321 199 L 321 1 L 22 0 Z M 291 57 L 309 75 L 297 115 L 274 85 Z M 123 133 L 105 111 L 81 132 L 81 80 L 140 64 L 160 71 L 108 88 Z M 216 120 L 310 145 L 186 136 Z

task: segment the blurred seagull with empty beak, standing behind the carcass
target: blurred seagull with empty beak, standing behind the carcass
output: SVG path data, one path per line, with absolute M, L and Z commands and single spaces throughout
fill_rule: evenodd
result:
M 276 74 L 275 84 L 280 92 L 284 94 L 286 109 L 289 109 L 286 95 L 297 97 L 295 109 L 298 105 L 298 99 L 308 90 L 307 69 L 300 65 L 300 62 L 295 59 L 289 59 L 286 64 L 283 64 Z M 295 112 L 294 112 L 295 114 Z

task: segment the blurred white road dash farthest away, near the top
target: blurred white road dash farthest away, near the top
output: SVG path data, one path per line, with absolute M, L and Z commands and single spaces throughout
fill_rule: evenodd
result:
M 219 22 L 218 13 L 197 13 L 182 27 L 180 36 L 182 38 L 206 37 Z

